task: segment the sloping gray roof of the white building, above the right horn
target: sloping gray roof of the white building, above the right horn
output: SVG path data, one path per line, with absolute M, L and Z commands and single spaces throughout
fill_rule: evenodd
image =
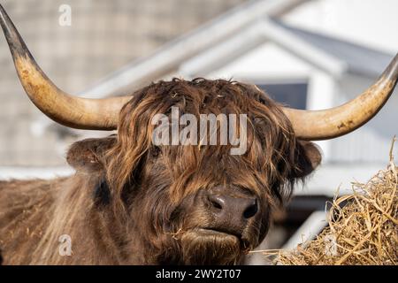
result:
M 309 42 L 319 50 L 323 50 L 332 57 L 344 61 L 348 65 L 348 72 L 358 73 L 367 76 L 378 76 L 384 71 L 388 63 L 394 57 L 384 51 L 373 50 L 362 45 L 347 42 L 325 34 L 310 32 L 301 28 L 291 27 L 280 20 L 273 21 L 287 29 L 289 32 L 300 37 L 303 41 Z

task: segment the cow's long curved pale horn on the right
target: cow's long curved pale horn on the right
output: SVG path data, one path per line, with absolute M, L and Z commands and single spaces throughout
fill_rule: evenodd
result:
M 299 139 L 328 140 L 348 134 L 372 119 L 387 103 L 398 79 L 398 54 L 364 93 L 341 106 L 322 111 L 284 108 Z

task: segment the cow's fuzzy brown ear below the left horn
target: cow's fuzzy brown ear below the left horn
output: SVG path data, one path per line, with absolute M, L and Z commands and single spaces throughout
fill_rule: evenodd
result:
M 101 171 L 104 154 L 115 142 L 115 136 L 75 142 L 67 152 L 66 161 L 78 171 Z

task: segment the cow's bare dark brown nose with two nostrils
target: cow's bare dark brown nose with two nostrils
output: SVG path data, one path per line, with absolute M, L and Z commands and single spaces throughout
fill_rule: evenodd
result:
M 258 211 L 256 197 L 247 193 L 218 189 L 208 193 L 207 201 L 215 228 L 229 233 L 241 233 Z

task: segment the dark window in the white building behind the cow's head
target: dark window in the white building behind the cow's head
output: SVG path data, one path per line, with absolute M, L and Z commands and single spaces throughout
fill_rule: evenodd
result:
M 305 109 L 307 105 L 307 83 L 257 84 L 273 100 L 296 109 Z

